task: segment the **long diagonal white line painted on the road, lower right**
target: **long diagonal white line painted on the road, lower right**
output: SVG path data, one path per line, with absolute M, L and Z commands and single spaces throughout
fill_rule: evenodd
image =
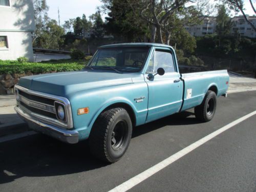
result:
M 195 150 L 197 147 L 201 146 L 202 144 L 204 144 L 205 142 L 209 141 L 210 139 L 218 136 L 219 134 L 221 134 L 222 132 L 230 129 L 232 126 L 237 125 L 238 123 L 248 119 L 249 117 L 253 116 L 256 114 L 256 111 L 249 113 L 248 115 L 245 115 L 225 126 L 223 126 L 222 128 L 220 128 L 219 130 L 205 136 L 204 138 L 196 141 L 195 143 L 190 144 L 189 146 L 183 148 L 183 150 L 177 152 L 176 154 L 166 158 L 165 160 L 161 161 L 160 163 L 152 166 L 151 168 L 148 168 L 147 170 L 145 170 L 144 172 L 140 173 L 139 175 L 125 181 L 124 183 L 116 186 L 115 188 L 111 189 L 109 192 L 121 192 L 121 191 L 127 191 L 129 189 L 131 189 L 132 187 L 134 187 L 135 185 L 139 184 L 140 182 L 144 181 L 145 179 L 147 179 L 148 177 L 151 177 L 152 175 L 154 175 L 155 173 L 159 172 L 161 169 L 165 168 L 166 166 L 172 164 L 173 162 L 177 161 L 178 159 L 180 159 L 181 157 L 185 156 L 186 154 L 188 154 L 189 152 Z

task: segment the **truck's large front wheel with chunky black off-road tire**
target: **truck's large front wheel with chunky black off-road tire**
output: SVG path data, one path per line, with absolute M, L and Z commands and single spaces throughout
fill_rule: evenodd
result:
M 93 125 L 89 137 L 92 154 L 114 163 L 126 152 L 132 137 L 132 121 L 123 108 L 102 112 Z

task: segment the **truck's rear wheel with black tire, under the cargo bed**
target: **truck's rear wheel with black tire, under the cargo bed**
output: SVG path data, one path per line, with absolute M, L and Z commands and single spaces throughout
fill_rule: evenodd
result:
M 207 91 L 203 102 L 195 107 L 196 118 L 203 122 L 208 122 L 214 118 L 217 106 L 217 96 L 213 91 Z

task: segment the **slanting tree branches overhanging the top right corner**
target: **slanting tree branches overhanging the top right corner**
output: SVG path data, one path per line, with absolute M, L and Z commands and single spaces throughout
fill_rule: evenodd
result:
M 250 5 L 251 8 L 253 9 L 254 13 L 256 14 L 256 10 L 252 4 L 252 1 L 250 1 Z M 244 16 L 244 19 L 246 20 L 246 22 L 252 27 L 252 29 L 256 32 L 256 27 L 252 24 L 252 22 L 250 22 L 250 20 L 248 20 L 246 14 L 244 13 L 244 1 L 243 0 L 223 0 L 224 3 L 228 4 L 230 9 L 239 12 L 241 11 L 241 13 Z

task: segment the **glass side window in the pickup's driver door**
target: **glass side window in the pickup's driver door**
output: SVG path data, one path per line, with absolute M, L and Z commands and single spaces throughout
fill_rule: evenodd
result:
M 147 73 L 156 72 L 163 68 L 166 73 L 175 72 L 173 55 L 170 52 L 156 50 L 147 68 Z

